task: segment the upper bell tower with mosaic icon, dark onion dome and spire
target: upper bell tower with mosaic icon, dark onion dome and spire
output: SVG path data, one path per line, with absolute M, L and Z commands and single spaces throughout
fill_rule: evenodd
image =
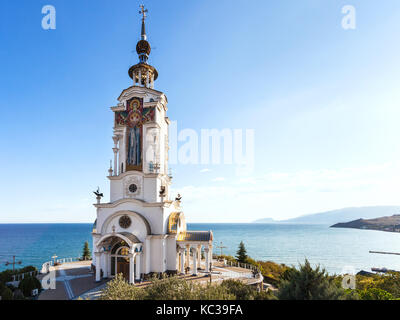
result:
M 167 97 L 154 89 L 157 70 L 148 64 L 147 10 L 141 6 L 142 28 L 136 45 L 138 64 L 129 68 L 133 86 L 118 98 L 114 112 L 114 165 L 110 166 L 111 201 L 134 198 L 146 202 L 168 200 Z

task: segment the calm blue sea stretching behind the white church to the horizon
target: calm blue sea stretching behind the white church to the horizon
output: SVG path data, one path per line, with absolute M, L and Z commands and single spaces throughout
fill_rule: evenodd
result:
M 400 271 L 400 255 L 369 251 L 400 252 L 400 234 L 330 228 L 328 225 L 294 224 L 188 224 L 191 230 L 212 230 L 213 251 L 235 255 L 244 242 L 247 254 L 256 259 L 298 266 L 308 259 L 330 274 L 385 267 Z M 38 268 L 51 257 L 81 256 L 90 246 L 92 224 L 0 224 L 0 271 L 10 268 L 13 256 L 21 264 Z

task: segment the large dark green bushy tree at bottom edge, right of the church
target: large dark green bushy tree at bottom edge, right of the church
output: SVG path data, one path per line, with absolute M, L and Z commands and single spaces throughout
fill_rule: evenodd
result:
M 313 269 L 308 260 L 299 270 L 285 272 L 277 295 L 279 300 L 341 300 L 344 289 L 337 286 L 325 269 Z

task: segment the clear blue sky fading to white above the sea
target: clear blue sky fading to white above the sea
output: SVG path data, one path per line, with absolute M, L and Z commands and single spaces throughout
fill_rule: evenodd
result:
M 253 129 L 255 167 L 172 166 L 189 222 L 398 205 L 400 3 L 143 1 L 178 130 Z M 3 0 L 0 223 L 91 222 L 139 1 Z M 42 7 L 57 29 L 41 28 Z M 356 29 L 341 26 L 356 9 Z

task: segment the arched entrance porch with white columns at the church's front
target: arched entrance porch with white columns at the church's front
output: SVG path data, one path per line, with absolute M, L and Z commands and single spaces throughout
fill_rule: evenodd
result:
M 97 242 L 96 281 L 121 273 L 129 283 L 141 278 L 142 243 L 128 233 L 113 233 Z

